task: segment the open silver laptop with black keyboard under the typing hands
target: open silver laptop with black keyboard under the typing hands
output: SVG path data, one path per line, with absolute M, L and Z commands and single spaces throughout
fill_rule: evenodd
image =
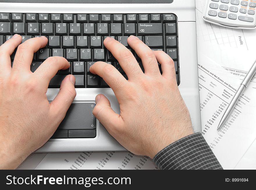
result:
M 47 46 L 34 55 L 32 72 L 49 56 L 63 56 L 70 62 L 69 69 L 58 71 L 51 80 L 49 101 L 67 74 L 76 77 L 77 96 L 65 119 L 36 152 L 126 150 L 92 114 L 97 94 L 104 94 L 113 110 L 120 112 L 112 89 L 89 71 L 101 60 L 126 77 L 103 45 L 107 36 L 130 49 L 142 70 L 141 59 L 127 44 L 129 35 L 173 58 L 194 131 L 201 132 L 194 0 L 0 0 L 0 45 L 15 33 L 22 35 L 22 42 L 40 35 L 48 37 Z

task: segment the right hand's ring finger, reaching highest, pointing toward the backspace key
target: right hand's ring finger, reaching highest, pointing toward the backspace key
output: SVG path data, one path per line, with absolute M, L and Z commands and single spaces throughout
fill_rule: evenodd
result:
M 144 44 L 138 37 L 129 36 L 127 39 L 129 46 L 137 53 L 137 55 L 141 58 L 143 67 L 145 69 L 145 74 L 160 75 L 157 59 L 152 52 L 152 50 Z

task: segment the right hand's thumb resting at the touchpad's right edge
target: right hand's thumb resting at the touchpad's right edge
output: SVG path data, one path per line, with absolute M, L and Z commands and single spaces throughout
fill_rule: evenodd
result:
M 114 137 L 113 129 L 123 126 L 120 114 L 117 114 L 110 107 L 110 102 L 103 94 L 98 94 L 95 98 L 96 106 L 93 115 L 99 120 L 106 130 Z

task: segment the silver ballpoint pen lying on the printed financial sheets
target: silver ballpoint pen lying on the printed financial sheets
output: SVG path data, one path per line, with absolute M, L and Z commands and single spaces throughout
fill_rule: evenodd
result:
M 226 111 L 224 112 L 222 118 L 221 118 L 221 122 L 217 128 L 217 130 L 219 130 L 219 128 L 221 128 L 223 126 L 223 124 L 226 122 L 228 116 L 231 114 L 234 106 L 236 105 L 239 97 L 241 96 L 241 94 L 243 93 L 243 90 L 247 87 L 248 83 L 250 82 L 250 80 L 253 78 L 253 76 L 256 73 L 256 60 L 253 63 L 252 67 L 250 68 L 250 70 L 248 71 L 248 73 L 246 74 L 246 76 L 243 79 L 243 82 L 240 84 L 240 87 L 237 89 L 236 94 L 233 96 L 230 104 L 227 106 Z

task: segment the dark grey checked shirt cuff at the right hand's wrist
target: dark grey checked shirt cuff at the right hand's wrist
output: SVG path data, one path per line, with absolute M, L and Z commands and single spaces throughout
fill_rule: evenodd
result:
M 200 132 L 168 145 L 153 161 L 160 169 L 222 169 Z

